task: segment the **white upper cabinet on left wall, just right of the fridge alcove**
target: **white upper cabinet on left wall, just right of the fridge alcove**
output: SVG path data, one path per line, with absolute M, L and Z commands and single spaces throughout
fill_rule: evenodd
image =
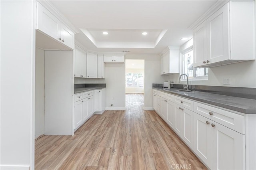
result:
M 87 57 L 86 51 L 80 47 L 75 47 L 75 77 L 84 77 L 87 75 Z

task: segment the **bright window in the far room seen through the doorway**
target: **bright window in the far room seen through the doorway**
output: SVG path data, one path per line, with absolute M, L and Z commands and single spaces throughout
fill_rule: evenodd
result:
M 126 87 L 144 87 L 142 73 L 126 73 Z

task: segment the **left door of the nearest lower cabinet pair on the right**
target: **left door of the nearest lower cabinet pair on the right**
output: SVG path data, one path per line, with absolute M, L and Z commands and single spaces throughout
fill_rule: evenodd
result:
M 212 122 L 194 113 L 194 152 L 210 169 L 212 169 Z

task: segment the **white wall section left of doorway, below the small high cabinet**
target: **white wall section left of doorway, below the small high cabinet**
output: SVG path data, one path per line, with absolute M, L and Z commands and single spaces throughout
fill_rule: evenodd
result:
M 106 110 L 125 110 L 125 64 L 105 66 Z

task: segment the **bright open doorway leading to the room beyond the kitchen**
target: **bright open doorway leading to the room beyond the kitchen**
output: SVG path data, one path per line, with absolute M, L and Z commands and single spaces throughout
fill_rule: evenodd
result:
M 144 59 L 125 61 L 126 107 L 144 106 Z

